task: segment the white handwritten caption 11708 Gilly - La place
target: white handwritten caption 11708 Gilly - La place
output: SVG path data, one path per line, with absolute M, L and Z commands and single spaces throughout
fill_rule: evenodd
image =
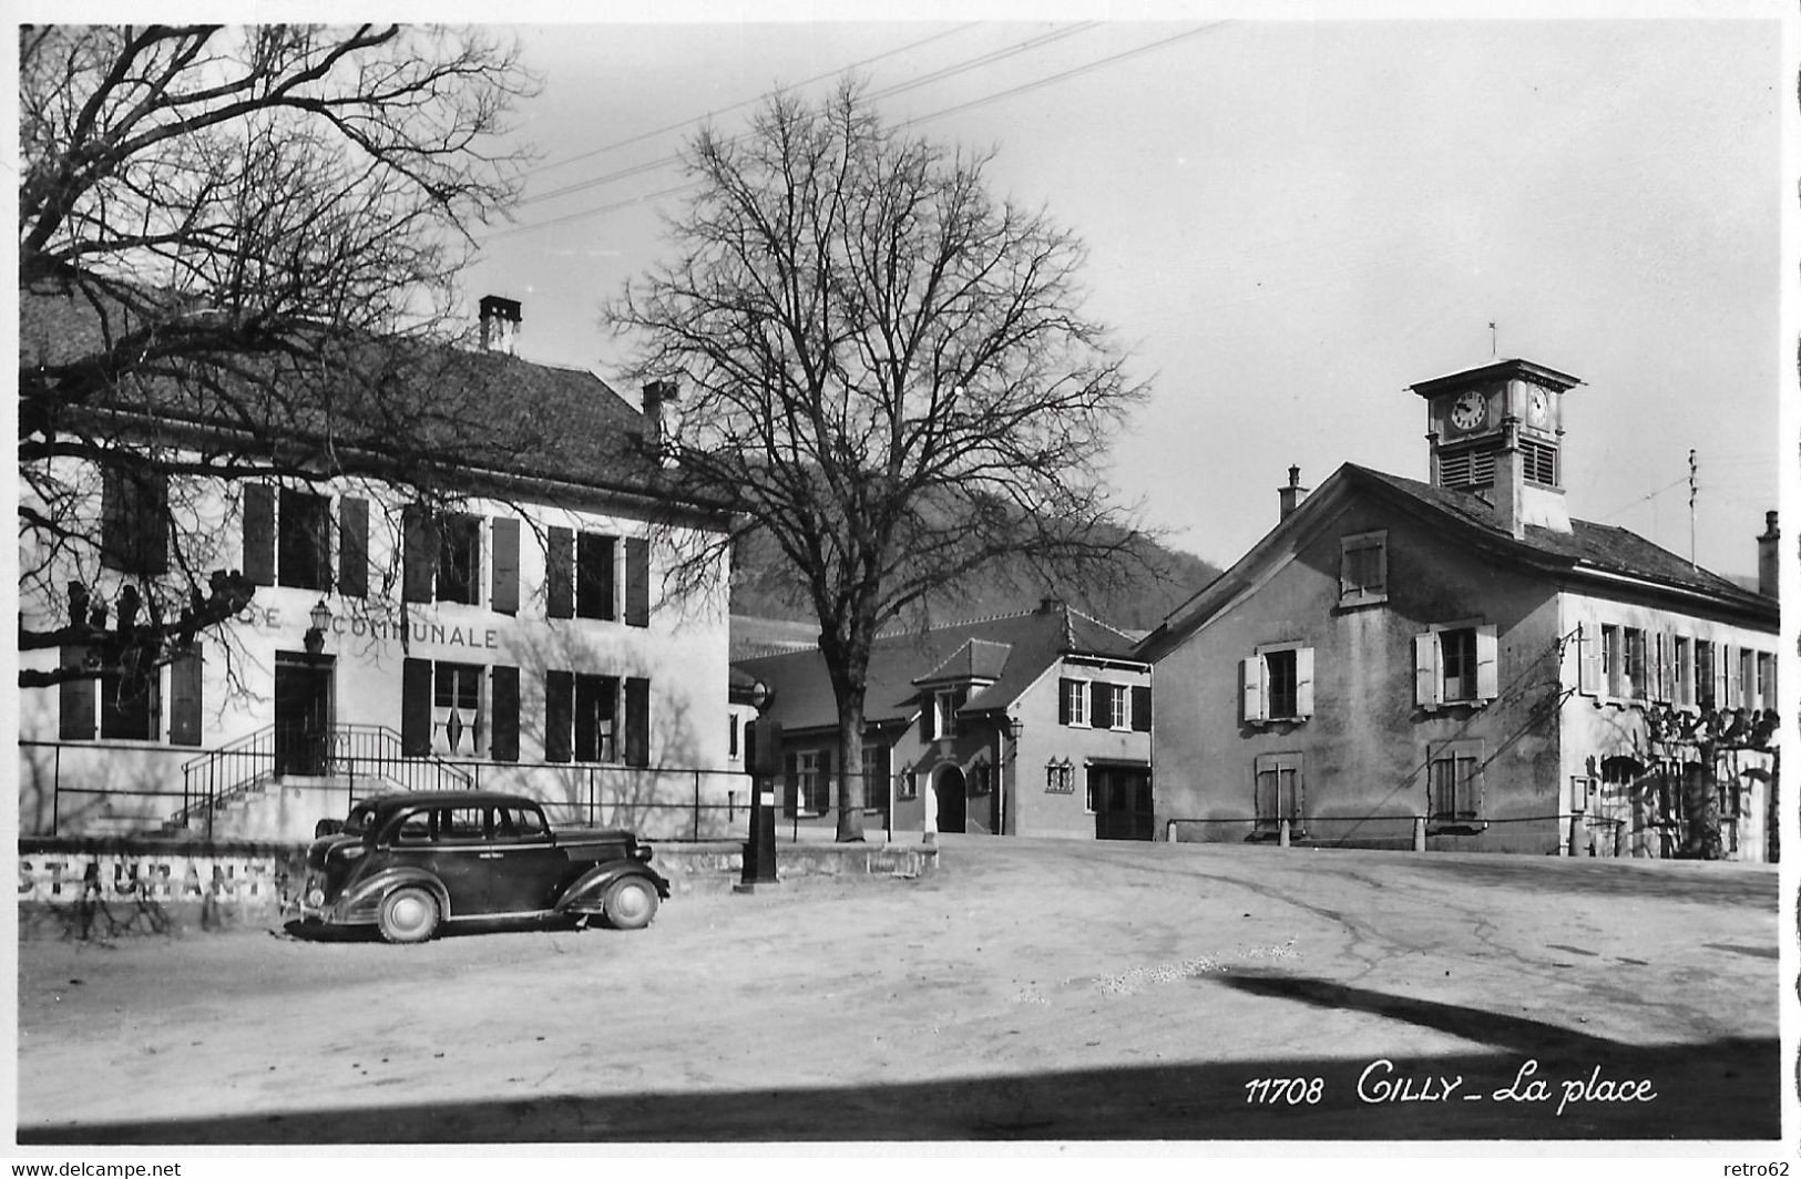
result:
M 1462 1075 L 1408 1073 L 1392 1060 L 1372 1060 L 1356 1078 L 1354 1096 L 1365 1105 L 1392 1102 L 1498 1102 L 1543 1107 L 1561 1118 L 1581 1105 L 1655 1102 L 1650 1080 L 1608 1076 L 1597 1064 L 1585 1076 L 1538 1076 L 1538 1060 L 1520 1066 L 1500 1089 L 1473 1089 Z M 1324 1076 L 1259 1076 L 1244 1082 L 1246 1105 L 1318 1105 L 1327 1100 Z M 1554 1102 L 1554 1105 L 1552 1105 Z

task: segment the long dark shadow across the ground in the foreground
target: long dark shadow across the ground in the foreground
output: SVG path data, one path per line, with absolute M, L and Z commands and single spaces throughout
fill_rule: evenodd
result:
M 22 1125 L 23 1145 L 996 1139 L 1776 1139 L 1769 1039 L 1626 1046 L 1533 1019 L 1293 976 L 1228 986 L 1434 1028 L 1495 1051 L 1142 1064 L 933 1082 Z M 1322 1021 L 1324 1026 L 1324 1021 Z M 1324 1037 L 1322 1037 L 1324 1039 Z M 645 1064 L 645 1062 L 641 1062 Z M 522 1084 L 522 1082 L 520 1082 Z

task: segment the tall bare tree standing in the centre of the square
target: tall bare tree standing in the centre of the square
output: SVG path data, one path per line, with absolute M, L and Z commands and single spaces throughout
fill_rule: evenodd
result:
M 884 126 L 848 79 L 774 97 L 744 135 L 697 135 L 674 259 L 607 310 L 639 380 L 681 382 L 670 479 L 767 529 L 818 612 L 841 841 L 863 837 L 877 630 L 1127 536 L 1099 466 L 1144 389 L 1082 313 L 1081 243 L 996 200 L 991 158 Z

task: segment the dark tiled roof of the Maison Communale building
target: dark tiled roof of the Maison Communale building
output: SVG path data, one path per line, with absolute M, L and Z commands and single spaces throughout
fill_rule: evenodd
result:
M 56 365 L 101 353 L 122 326 L 133 324 L 122 313 L 103 324 L 85 299 L 20 292 L 20 364 Z M 369 362 L 360 365 L 358 382 L 321 392 L 285 387 L 279 400 L 247 387 L 238 401 L 256 403 L 252 421 L 279 421 L 295 439 L 330 434 L 340 448 L 380 455 L 403 437 L 416 455 L 448 466 L 668 493 L 641 445 L 643 416 L 593 373 L 450 346 L 364 347 Z M 204 427 L 236 421 L 222 400 L 205 398 L 155 382 L 99 405 Z

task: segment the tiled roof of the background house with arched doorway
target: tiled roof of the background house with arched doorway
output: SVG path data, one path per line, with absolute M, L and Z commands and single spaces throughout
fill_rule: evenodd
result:
M 998 648 L 1005 648 L 1005 661 L 996 670 Z M 996 673 L 994 684 L 973 695 L 964 711 L 1005 707 L 1064 652 L 1133 659 L 1131 639 L 1063 605 L 881 635 L 870 650 L 864 720 L 910 720 L 919 711 L 915 684 L 938 679 L 937 670 L 956 655 L 965 655 L 971 668 Z M 825 673 L 825 657 L 818 650 L 742 659 L 735 666 L 769 684 L 774 698 L 767 716 L 785 727 L 819 729 L 837 724 L 837 702 Z

